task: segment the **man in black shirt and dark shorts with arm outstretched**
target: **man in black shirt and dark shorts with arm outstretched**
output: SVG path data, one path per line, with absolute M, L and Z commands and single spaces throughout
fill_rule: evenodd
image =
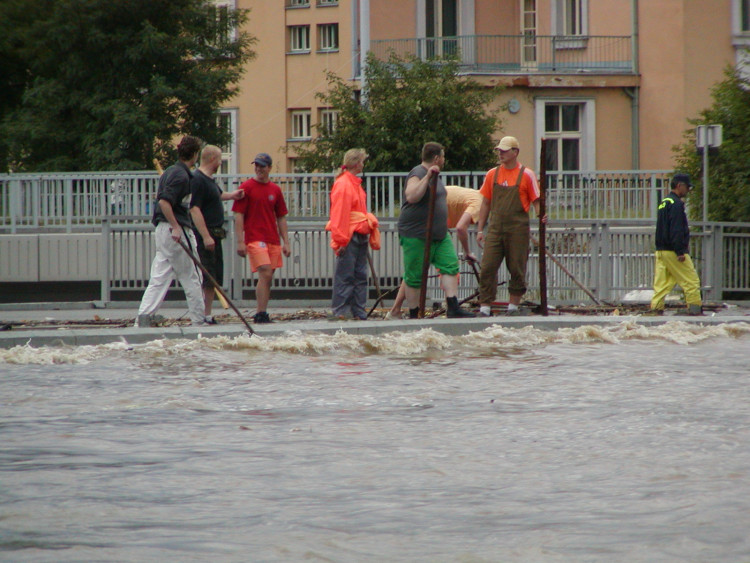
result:
M 224 251 L 221 241 L 226 237 L 226 230 L 224 229 L 223 202 L 241 199 L 245 192 L 242 190 L 222 191 L 214 181 L 214 174 L 220 166 L 221 149 L 215 145 L 203 147 L 201 165 L 190 179 L 190 191 L 193 194 L 190 216 L 193 218 L 193 230 L 198 241 L 198 256 L 200 256 L 201 263 L 219 285 L 224 285 Z M 211 316 L 214 287 L 205 276 L 203 299 L 206 322 L 216 324 Z

